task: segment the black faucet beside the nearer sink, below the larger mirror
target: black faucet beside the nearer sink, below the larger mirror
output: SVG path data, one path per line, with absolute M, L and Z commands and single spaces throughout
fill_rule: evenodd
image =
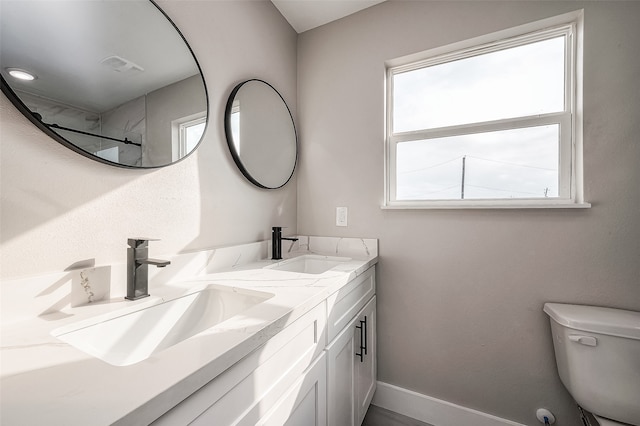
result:
M 137 300 L 149 296 L 149 265 L 164 268 L 168 260 L 149 259 L 150 238 L 129 238 L 127 243 L 127 296 L 125 299 Z

